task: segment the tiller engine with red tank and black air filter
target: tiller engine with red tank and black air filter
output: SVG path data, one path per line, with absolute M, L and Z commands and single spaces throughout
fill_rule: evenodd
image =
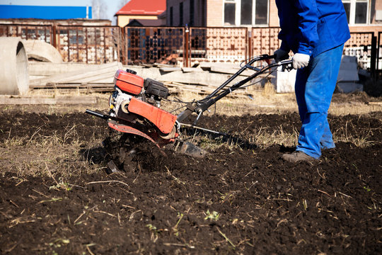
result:
M 126 114 L 129 113 L 128 106 L 132 98 L 160 108 L 161 100 L 167 99 L 169 95 L 163 83 L 154 79 L 143 79 L 131 69 L 117 70 L 114 85 L 115 91 L 109 100 L 110 115 L 120 118 L 127 118 Z

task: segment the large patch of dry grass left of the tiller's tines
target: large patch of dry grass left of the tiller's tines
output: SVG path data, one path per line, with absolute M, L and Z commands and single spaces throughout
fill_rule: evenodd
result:
M 68 140 L 71 140 L 68 143 Z M 89 137 L 84 147 L 79 140 L 76 126 L 69 128 L 64 137 L 57 134 L 41 136 L 38 130 L 33 137 L 9 137 L 0 146 L 1 166 L 19 176 L 51 176 L 59 173 L 63 178 L 71 175 L 91 174 L 103 166 L 87 161 L 81 152 L 100 145 L 100 141 Z

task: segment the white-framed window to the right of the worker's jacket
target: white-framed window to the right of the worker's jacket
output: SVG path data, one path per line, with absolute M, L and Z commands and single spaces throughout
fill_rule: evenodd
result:
M 369 1 L 368 0 L 342 0 L 347 15 L 347 23 L 367 24 L 369 16 Z

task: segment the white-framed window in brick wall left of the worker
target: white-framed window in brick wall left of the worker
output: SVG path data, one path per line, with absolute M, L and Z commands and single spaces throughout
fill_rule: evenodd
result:
M 269 2 L 270 0 L 225 0 L 224 25 L 267 25 Z

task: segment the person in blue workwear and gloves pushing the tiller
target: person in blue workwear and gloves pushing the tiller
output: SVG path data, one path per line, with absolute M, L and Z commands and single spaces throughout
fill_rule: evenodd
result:
M 301 118 L 296 151 L 282 154 L 288 162 L 312 162 L 321 149 L 335 147 L 328 109 L 335 90 L 344 43 L 349 40 L 341 0 L 276 0 L 282 40 L 276 62 L 294 52 L 295 93 Z

